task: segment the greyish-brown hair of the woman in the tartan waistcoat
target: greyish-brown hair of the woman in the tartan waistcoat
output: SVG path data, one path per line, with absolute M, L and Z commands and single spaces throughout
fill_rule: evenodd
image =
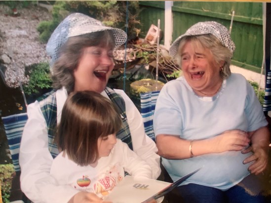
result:
M 74 91 L 74 70 L 78 67 L 85 48 L 90 46 L 110 47 L 114 49 L 115 38 L 111 31 L 94 32 L 69 37 L 59 50 L 59 58 L 53 65 L 53 87 L 58 90 L 65 87 L 68 93 Z

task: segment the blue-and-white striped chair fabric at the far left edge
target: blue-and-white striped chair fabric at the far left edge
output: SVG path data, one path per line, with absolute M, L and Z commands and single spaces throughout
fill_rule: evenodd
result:
M 7 143 L 9 146 L 12 163 L 14 165 L 15 171 L 21 170 L 19 165 L 19 150 L 23 130 L 27 119 L 28 119 L 27 113 L 20 113 L 2 117 L 2 121 L 5 128 L 5 134 L 7 137 Z

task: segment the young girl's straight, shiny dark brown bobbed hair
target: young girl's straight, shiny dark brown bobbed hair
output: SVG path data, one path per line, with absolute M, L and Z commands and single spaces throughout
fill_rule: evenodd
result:
M 109 99 L 91 91 L 73 92 L 64 104 L 55 142 L 69 159 L 87 166 L 99 158 L 98 138 L 120 127 L 120 114 Z

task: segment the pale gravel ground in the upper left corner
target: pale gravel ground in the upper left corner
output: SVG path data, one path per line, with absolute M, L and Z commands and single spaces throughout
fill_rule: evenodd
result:
M 37 26 L 40 21 L 48 21 L 51 14 L 37 5 L 17 8 L 18 16 L 8 15 L 10 9 L 0 4 L 0 56 L 7 55 L 11 61 L 3 64 L 5 82 L 9 87 L 18 87 L 18 81 L 27 81 L 25 66 L 47 62 L 45 44 L 39 42 Z

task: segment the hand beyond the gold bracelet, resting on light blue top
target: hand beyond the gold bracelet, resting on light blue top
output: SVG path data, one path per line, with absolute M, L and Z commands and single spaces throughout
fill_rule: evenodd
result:
M 213 138 L 212 148 L 214 153 L 240 151 L 245 146 L 248 146 L 249 142 L 250 139 L 246 132 L 240 130 L 229 130 Z

